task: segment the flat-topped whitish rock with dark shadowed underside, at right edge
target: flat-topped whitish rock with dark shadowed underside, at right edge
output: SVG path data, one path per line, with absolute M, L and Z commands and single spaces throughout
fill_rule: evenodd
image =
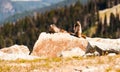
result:
M 120 54 L 120 39 L 105 39 L 105 38 L 87 38 L 89 46 L 86 52 L 91 50 L 99 52 L 100 55 L 116 53 Z

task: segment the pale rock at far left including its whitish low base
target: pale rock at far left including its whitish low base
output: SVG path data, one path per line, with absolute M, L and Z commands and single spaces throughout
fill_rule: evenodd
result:
M 13 45 L 8 48 L 0 49 L 0 59 L 1 60 L 16 60 L 16 59 L 26 59 L 33 60 L 38 57 L 30 56 L 30 51 L 27 46 L 24 45 Z

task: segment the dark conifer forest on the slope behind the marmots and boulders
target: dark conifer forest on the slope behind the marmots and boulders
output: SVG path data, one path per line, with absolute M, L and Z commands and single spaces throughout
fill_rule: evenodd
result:
M 101 23 L 98 14 L 99 10 L 116 4 L 119 4 L 119 0 L 91 0 L 86 5 L 82 5 L 78 1 L 74 5 L 45 13 L 34 13 L 34 15 L 18 19 L 16 22 L 8 22 L 0 27 L 0 48 L 23 44 L 32 51 L 39 34 L 43 31 L 49 32 L 50 24 L 54 23 L 60 28 L 73 32 L 74 23 L 78 20 L 82 24 L 83 33 L 87 36 L 118 38 L 120 37 L 119 16 L 115 17 L 111 14 L 110 25 L 106 26 Z M 106 19 L 104 23 L 106 23 Z

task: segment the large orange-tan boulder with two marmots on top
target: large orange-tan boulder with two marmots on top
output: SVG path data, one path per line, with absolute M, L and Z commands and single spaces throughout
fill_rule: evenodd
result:
M 31 55 L 57 57 L 62 51 L 69 51 L 76 47 L 85 51 L 87 44 L 84 38 L 77 38 L 67 33 L 47 34 L 43 32 L 36 41 Z

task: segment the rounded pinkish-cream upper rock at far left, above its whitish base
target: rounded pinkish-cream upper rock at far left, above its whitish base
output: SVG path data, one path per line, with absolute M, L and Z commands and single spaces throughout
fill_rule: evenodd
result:
M 8 48 L 0 49 L 1 52 L 6 54 L 26 54 L 29 55 L 30 51 L 27 46 L 24 45 L 13 45 Z

